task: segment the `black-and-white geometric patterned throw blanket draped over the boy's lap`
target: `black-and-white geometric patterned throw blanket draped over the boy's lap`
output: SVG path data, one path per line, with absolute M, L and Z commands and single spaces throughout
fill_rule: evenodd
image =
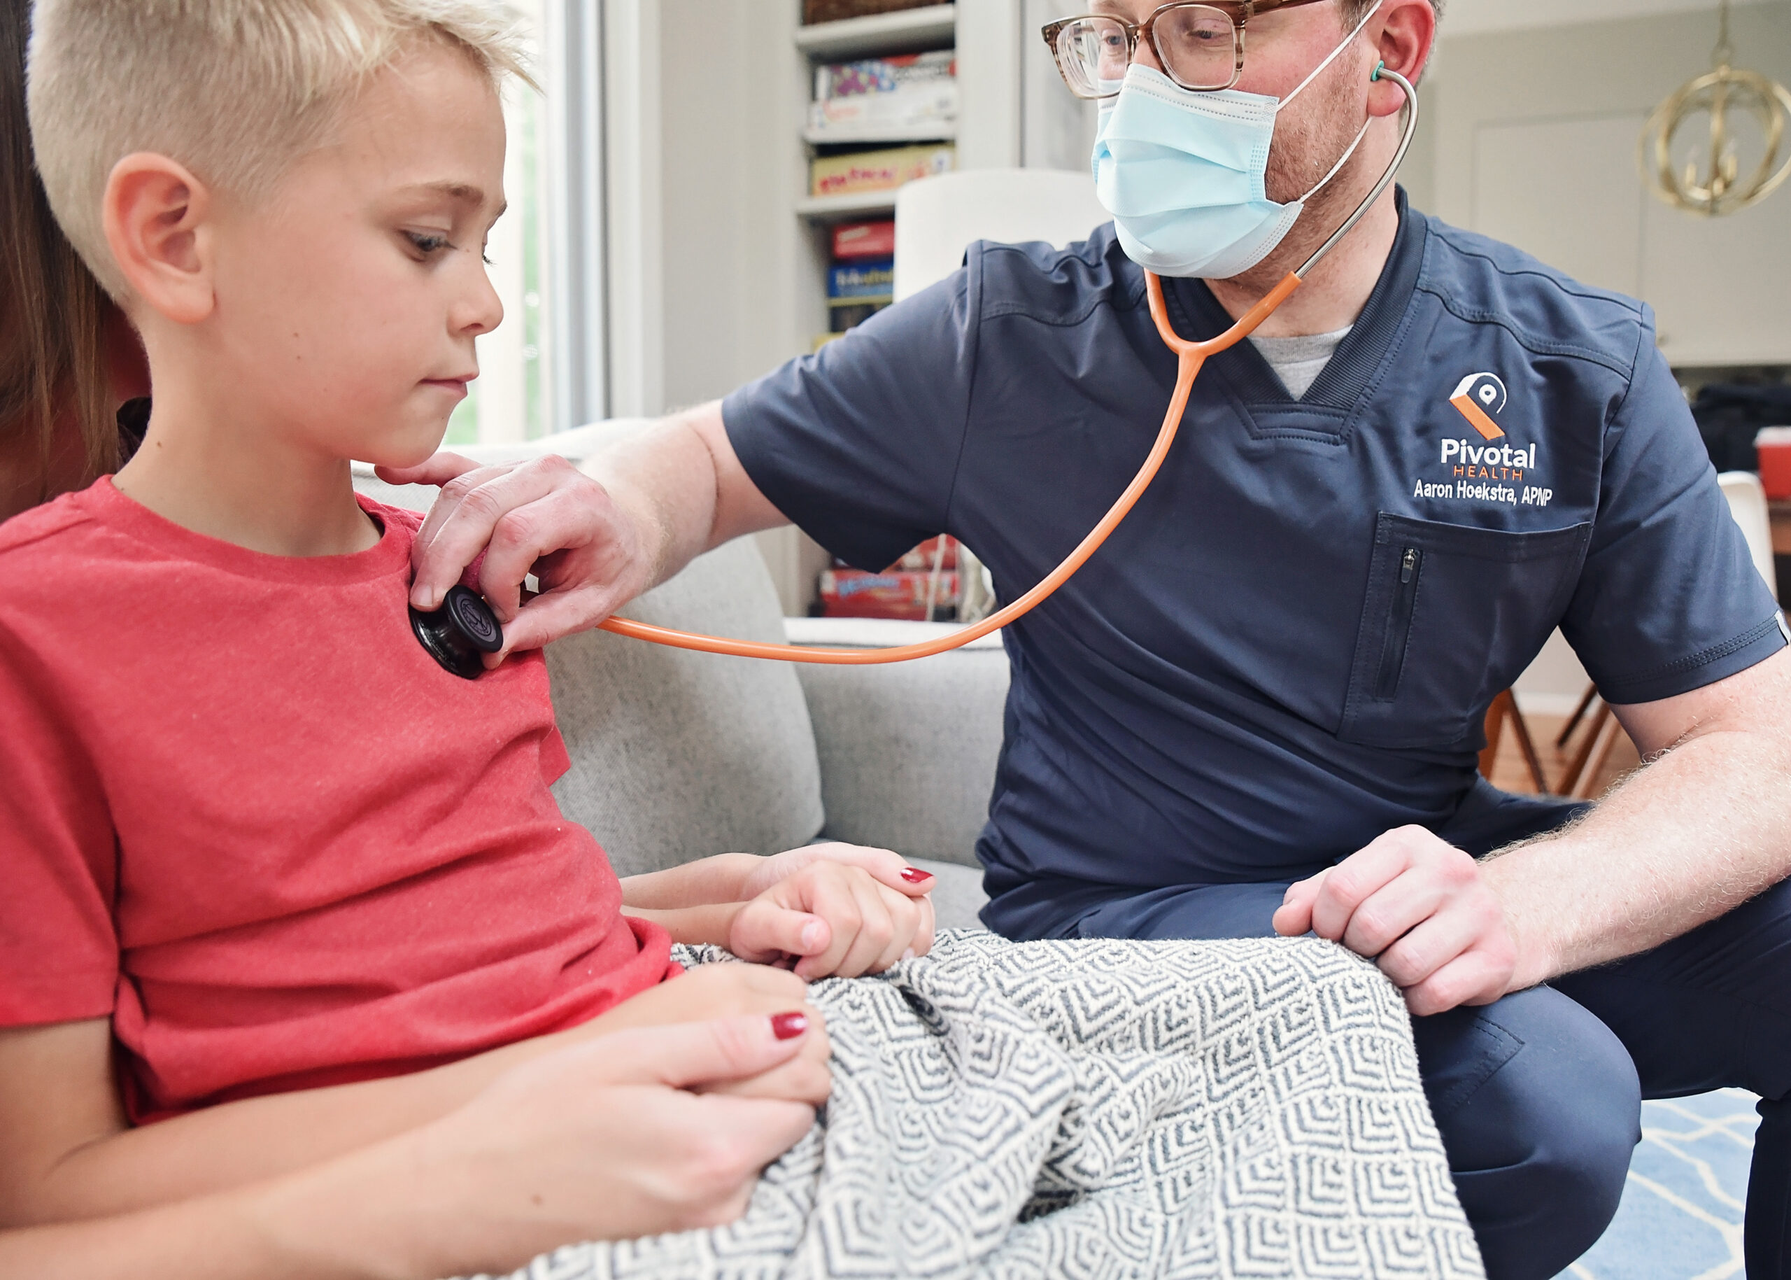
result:
M 1483 1275 L 1399 993 L 1331 943 L 947 932 L 811 1002 L 833 1097 L 740 1223 L 516 1278 Z

